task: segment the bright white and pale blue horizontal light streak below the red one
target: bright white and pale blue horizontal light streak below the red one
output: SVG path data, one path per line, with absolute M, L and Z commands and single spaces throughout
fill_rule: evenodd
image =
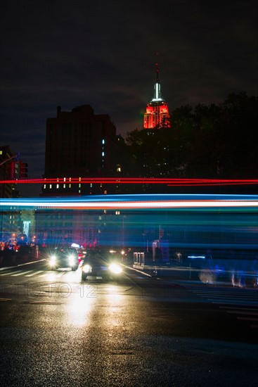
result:
M 8 200 L 1 201 L 0 207 L 6 205 L 18 205 L 22 207 L 43 207 L 43 208 L 77 208 L 77 209 L 137 209 L 137 208 L 220 208 L 220 207 L 257 207 L 258 201 L 22 201 Z

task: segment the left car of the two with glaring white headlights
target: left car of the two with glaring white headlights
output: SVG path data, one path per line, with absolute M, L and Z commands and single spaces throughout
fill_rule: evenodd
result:
M 49 270 L 56 270 L 58 267 L 78 268 L 78 255 L 75 248 L 56 247 L 46 257 L 46 265 Z

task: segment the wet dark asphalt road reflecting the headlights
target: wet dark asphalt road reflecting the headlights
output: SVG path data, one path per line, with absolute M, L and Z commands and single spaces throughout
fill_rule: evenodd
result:
M 1 386 L 257 386 L 258 291 L 0 271 Z

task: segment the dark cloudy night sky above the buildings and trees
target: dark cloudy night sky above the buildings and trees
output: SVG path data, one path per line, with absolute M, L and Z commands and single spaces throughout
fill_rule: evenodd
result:
M 155 53 L 172 111 L 257 95 L 257 1 L 1 1 L 0 145 L 44 173 L 46 118 L 89 104 L 142 128 Z

